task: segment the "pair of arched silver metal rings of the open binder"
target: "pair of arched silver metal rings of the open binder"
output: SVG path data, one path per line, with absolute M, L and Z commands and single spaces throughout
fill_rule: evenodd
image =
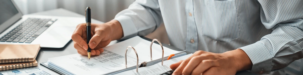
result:
M 163 46 L 162 46 L 161 42 L 160 42 L 158 39 L 153 39 L 153 40 L 151 41 L 151 45 L 150 45 L 150 54 L 151 54 L 151 60 L 152 60 L 151 46 L 152 46 L 152 44 L 154 43 L 154 41 L 157 41 L 157 42 L 160 44 L 161 48 L 162 48 L 162 66 L 163 66 L 164 49 L 163 49 Z M 139 58 L 138 58 L 137 51 L 136 51 L 136 50 L 135 50 L 135 48 L 134 48 L 134 47 L 132 47 L 132 46 L 128 46 L 128 47 L 126 47 L 126 50 L 125 50 L 125 67 L 127 68 L 126 53 L 127 53 L 128 48 L 132 48 L 132 49 L 135 51 L 136 55 L 137 55 L 137 66 L 136 66 L 136 72 L 138 72 L 138 63 L 139 63 Z M 147 65 L 147 62 L 143 62 L 143 63 L 141 63 L 141 65 L 140 65 L 139 67 L 146 67 L 146 65 Z

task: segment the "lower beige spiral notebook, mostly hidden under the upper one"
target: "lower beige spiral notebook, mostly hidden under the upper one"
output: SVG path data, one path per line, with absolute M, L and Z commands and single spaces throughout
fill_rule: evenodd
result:
M 33 62 L 0 64 L 0 71 L 20 69 L 20 68 L 26 68 L 26 67 L 35 67 L 35 66 L 38 66 L 38 62 L 36 60 Z

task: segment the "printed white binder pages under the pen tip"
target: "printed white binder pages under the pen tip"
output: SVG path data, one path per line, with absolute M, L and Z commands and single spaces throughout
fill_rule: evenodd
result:
M 144 61 L 150 62 L 150 41 L 144 40 L 138 36 L 128 40 L 104 47 L 104 52 L 98 56 L 92 56 L 88 60 L 87 56 L 72 54 L 49 58 L 49 64 L 53 64 L 72 74 L 77 75 L 102 75 L 113 73 L 120 70 L 131 69 L 136 66 L 137 56 L 133 50 L 127 51 L 127 67 L 125 68 L 125 49 L 127 46 L 133 46 L 139 58 L 139 64 Z M 164 46 L 163 46 L 164 47 Z M 76 51 L 76 50 L 75 50 Z M 178 54 L 181 51 L 175 51 L 164 47 L 164 57 L 171 54 Z M 152 61 L 161 60 L 162 49 L 158 44 L 152 45 Z

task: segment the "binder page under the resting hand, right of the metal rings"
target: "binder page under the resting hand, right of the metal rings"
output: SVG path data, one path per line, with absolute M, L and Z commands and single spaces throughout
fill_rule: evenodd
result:
M 180 60 L 185 60 L 186 58 L 188 58 L 189 56 L 191 56 L 192 54 L 188 54 L 188 55 L 184 55 L 178 58 L 173 58 L 170 60 L 166 60 L 163 62 L 163 66 L 161 65 L 161 62 L 151 65 L 151 66 L 147 66 L 147 67 L 140 67 L 138 68 L 138 72 L 136 72 L 136 69 L 133 70 L 128 70 L 128 71 L 124 71 L 115 75 L 159 75 L 162 74 L 164 72 L 167 72 L 170 69 L 170 65 L 177 63 Z

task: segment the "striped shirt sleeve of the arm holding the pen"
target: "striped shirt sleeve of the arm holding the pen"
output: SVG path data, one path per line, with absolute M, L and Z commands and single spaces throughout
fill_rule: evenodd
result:
M 115 19 L 123 29 L 123 39 L 145 36 L 153 32 L 162 22 L 158 0 L 136 0 L 128 9 L 119 12 Z

